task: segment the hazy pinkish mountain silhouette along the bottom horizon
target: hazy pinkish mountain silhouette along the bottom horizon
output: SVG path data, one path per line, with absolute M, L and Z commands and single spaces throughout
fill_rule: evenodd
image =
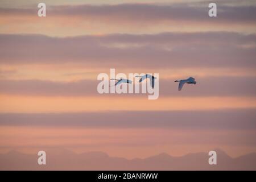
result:
M 1 170 L 256 170 L 256 153 L 231 158 L 216 150 L 217 165 L 209 165 L 205 152 L 171 156 L 165 153 L 145 159 L 111 157 L 104 152 L 75 154 L 68 150 L 46 150 L 47 164 L 38 156 L 11 151 L 0 154 Z

